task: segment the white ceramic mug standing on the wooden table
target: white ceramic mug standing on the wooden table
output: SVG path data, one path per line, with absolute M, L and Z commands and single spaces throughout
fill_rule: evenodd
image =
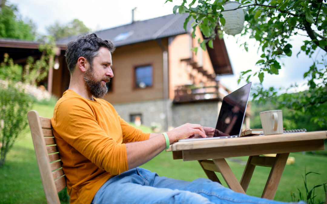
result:
M 282 110 L 261 112 L 260 120 L 264 135 L 283 134 L 284 129 Z

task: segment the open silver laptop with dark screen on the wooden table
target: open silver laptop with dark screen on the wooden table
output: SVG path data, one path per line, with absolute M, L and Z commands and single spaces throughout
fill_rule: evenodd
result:
M 249 101 L 251 82 L 223 98 L 214 136 L 191 138 L 179 142 L 239 137 Z

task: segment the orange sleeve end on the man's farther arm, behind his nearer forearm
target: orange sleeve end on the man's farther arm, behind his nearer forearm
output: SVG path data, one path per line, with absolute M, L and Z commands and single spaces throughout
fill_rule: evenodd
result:
M 138 142 L 149 139 L 150 133 L 143 133 L 142 130 L 128 124 L 120 116 L 118 117 L 123 132 L 123 143 Z

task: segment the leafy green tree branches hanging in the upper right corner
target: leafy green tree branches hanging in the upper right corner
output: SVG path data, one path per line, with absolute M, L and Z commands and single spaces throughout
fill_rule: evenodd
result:
M 166 0 L 168 1 L 172 2 Z M 256 62 L 259 71 L 243 71 L 238 83 L 241 79 L 249 81 L 251 77 L 258 76 L 261 84 L 254 89 L 254 99 L 275 100 L 283 107 L 302 114 L 310 113 L 317 116 L 312 119 L 313 122 L 321 127 L 326 126 L 327 114 L 320 108 L 327 103 L 327 0 L 236 1 L 240 3 L 239 8 L 245 11 L 246 23 L 241 36 L 250 36 L 257 40 L 262 52 L 261 59 Z M 173 8 L 173 12 L 176 13 L 178 10 L 181 14 L 189 13 L 184 28 L 186 29 L 187 23 L 192 21 L 192 36 L 196 37 L 194 31 L 199 27 L 205 37 L 203 41 L 199 41 L 200 46 L 202 49 L 205 49 L 206 45 L 212 48 L 212 40 L 224 34 L 225 19 L 222 12 L 225 2 L 226 0 L 193 0 L 187 5 L 187 1 L 183 0 L 181 5 Z M 310 58 L 313 58 L 316 50 L 321 50 L 323 54 L 321 59 L 314 59 L 313 65 L 303 75 L 309 90 L 299 92 L 297 97 L 301 97 L 300 99 L 293 95 L 284 95 L 284 101 L 280 101 L 276 88 L 264 89 L 262 82 L 267 74 L 278 75 L 282 68 L 280 59 L 292 55 L 292 45 L 289 42 L 294 35 L 307 36 L 298 54 L 304 52 Z M 248 49 L 246 42 L 242 46 L 245 50 Z

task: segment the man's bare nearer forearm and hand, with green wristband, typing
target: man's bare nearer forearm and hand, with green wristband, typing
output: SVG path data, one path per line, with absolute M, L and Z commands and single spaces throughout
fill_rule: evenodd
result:
M 205 128 L 198 124 L 184 124 L 167 132 L 169 144 L 177 142 L 180 139 L 200 135 L 206 137 L 207 134 L 214 133 L 214 128 Z M 128 168 L 132 169 L 143 165 L 157 156 L 166 148 L 166 140 L 163 134 L 151 133 L 148 140 L 132 142 L 126 144 Z

